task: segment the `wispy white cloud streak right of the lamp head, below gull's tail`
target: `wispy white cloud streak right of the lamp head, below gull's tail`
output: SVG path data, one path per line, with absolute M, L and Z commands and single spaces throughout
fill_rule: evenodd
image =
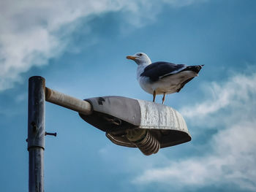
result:
M 256 94 L 255 82 L 256 74 L 251 74 L 249 77 L 239 74 L 220 85 L 212 82 L 204 87 L 209 99 L 195 106 L 184 107 L 181 109 L 181 114 L 185 118 L 205 118 L 223 108 L 237 106 L 241 101 L 248 101 L 250 95 Z

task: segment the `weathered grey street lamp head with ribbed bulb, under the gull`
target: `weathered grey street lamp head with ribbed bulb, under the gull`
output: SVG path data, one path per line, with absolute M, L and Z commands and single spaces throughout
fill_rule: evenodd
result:
M 80 117 L 105 131 L 116 145 L 138 147 L 145 155 L 151 155 L 159 148 L 191 140 L 184 118 L 171 107 L 121 96 L 85 100 L 91 104 L 92 113 L 79 114 Z

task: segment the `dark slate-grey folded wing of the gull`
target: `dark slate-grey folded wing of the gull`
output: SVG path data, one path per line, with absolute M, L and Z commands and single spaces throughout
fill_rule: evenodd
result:
M 172 64 L 168 62 L 155 62 L 146 66 L 144 72 L 140 76 L 149 77 L 151 81 L 157 81 L 171 74 L 176 74 L 187 66 L 184 64 Z

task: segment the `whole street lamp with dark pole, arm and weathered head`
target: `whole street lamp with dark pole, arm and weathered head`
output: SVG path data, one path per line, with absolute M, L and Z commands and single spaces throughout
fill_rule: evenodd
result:
M 138 147 L 144 155 L 191 140 L 184 118 L 163 104 L 121 96 L 76 99 L 45 87 L 43 77 L 29 78 L 29 192 L 44 191 L 45 101 L 74 110 L 104 131 L 116 145 Z

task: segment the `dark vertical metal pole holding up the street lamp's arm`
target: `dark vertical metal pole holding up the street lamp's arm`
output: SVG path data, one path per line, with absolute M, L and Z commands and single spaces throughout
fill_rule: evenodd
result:
M 29 78 L 29 192 L 44 191 L 45 79 Z

